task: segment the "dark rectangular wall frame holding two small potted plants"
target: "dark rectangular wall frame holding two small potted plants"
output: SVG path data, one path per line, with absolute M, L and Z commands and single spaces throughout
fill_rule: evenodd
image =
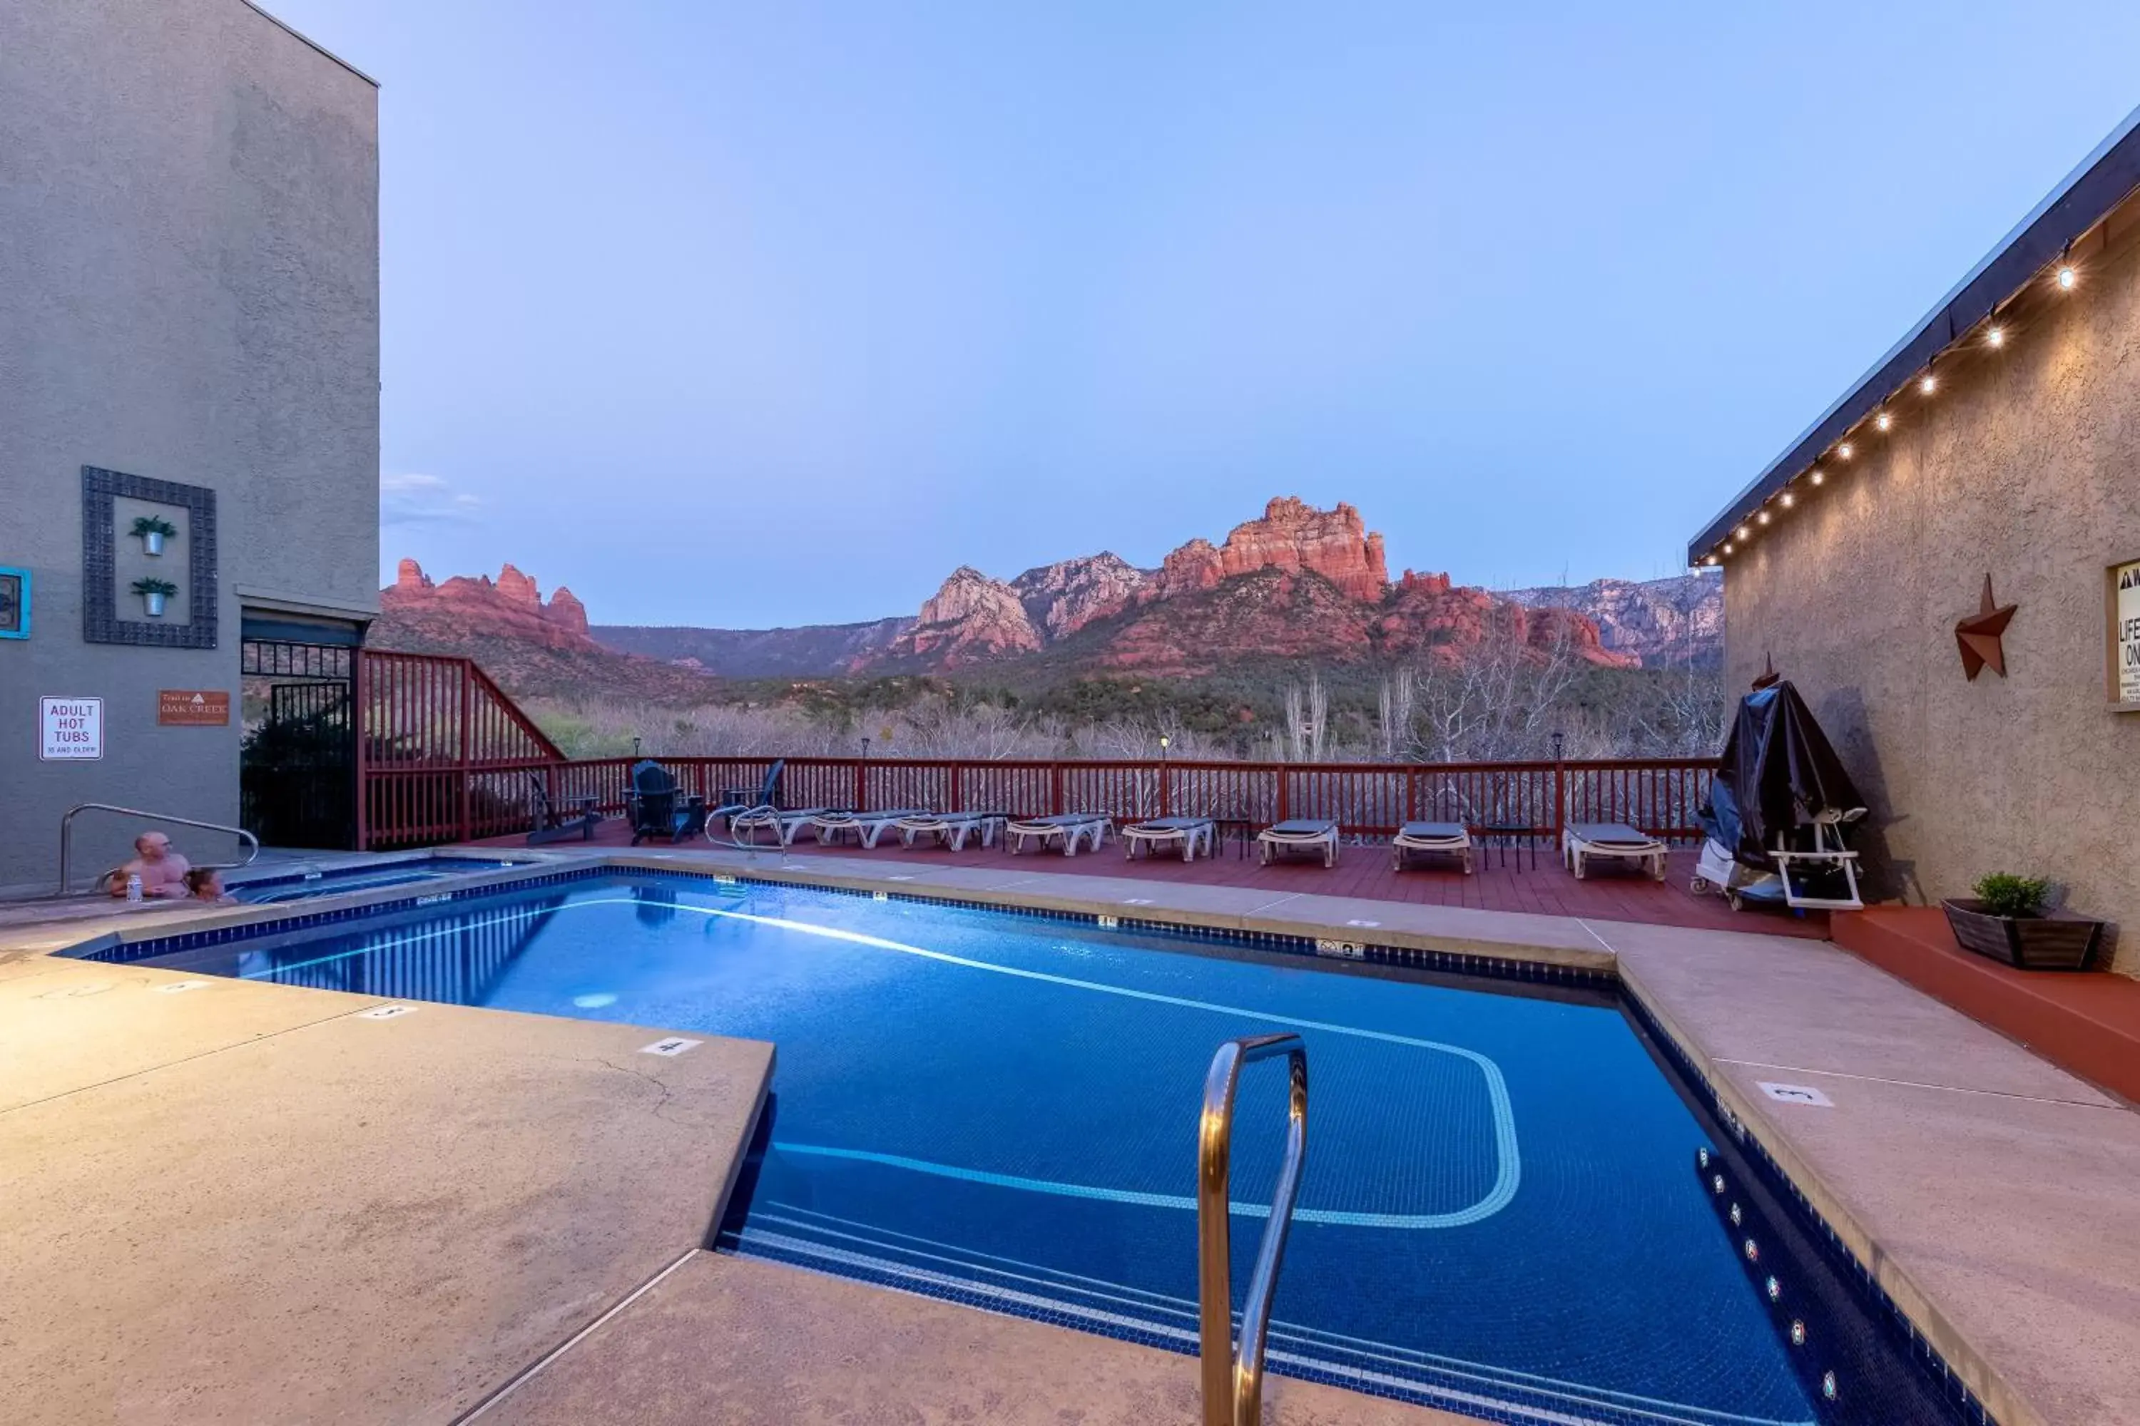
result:
M 126 530 L 120 528 L 122 513 Z M 154 547 L 146 539 L 133 539 L 148 528 L 158 528 Z M 124 603 L 122 586 L 128 590 Z M 101 466 L 81 468 L 86 644 L 216 648 L 216 592 L 214 490 Z

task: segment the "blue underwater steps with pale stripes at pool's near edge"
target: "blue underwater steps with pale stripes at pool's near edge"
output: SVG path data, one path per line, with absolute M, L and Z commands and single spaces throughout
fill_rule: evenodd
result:
M 792 1204 L 760 1202 L 740 1229 L 721 1234 L 717 1246 L 1145 1347 L 1196 1351 L 1194 1300 L 976 1253 Z M 1286 1377 L 1526 1426 L 1772 1426 L 1284 1321 L 1271 1323 L 1269 1366 Z

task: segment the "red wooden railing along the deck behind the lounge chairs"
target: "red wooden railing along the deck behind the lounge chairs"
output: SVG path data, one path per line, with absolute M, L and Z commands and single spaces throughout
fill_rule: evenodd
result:
M 552 808 L 625 808 L 629 757 L 567 759 L 475 663 L 366 650 L 357 661 L 360 847 L 524 832 Z M 687 793 L 751 797 L 770 757 L 661 757 Z M 1017 817 L 1327 817 L 1357 836 L 1462 821 L 1558 840 L 1569 821 L 1626 821 L 1688 840 L 1714 759 L 1528 763 L 1205 763 L 790 757 L 781 806 L 989 810 Z

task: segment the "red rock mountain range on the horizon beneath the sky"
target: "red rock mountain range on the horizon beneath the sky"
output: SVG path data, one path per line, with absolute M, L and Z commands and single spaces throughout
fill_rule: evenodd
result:
M 1626 586 L 1603 601 L 1626 614 L 1629 644 L 1641 618 L 1661 618 L 1644 614 L 1648 588 Z M 1509 646 L 1539 656 L 1558 648 L 1601 667 L 1641 663 L 1635 648 L 1601 637 L 1584 601 L 1549 594 L 1492 594 L 1412 571 L 1391 584 L 1382 537 L 1365 528 L 1357 509 L 1318 511 L 1286 496 L 1218 545 L 1188 541 L 1160 569 L 1094 554 L 1006 582 L 961 567 L 916 616 L 869 624 L 591 631 L 578 599 L 559 590 L 546 603 L 511 564 L 494 582 L 454 577 L 432 586 L 415 560 L 402 560 L 400 577 L 379 601 L 381 633 L 400 646 L 488 639 L 574 654 L 623 650 L 674 665 L 668 671 L 678 676 L 935 673 L 1021 658 L 1044 658 L 1042 667 L 1064 673 L 1196 676 L 1269 658 L 1451 663 Z M 1684 620 L 1673 629 L 1699 624 Z

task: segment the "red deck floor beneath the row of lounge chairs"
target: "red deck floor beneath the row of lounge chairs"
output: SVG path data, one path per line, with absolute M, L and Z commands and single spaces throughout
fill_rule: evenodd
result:
M 524 836 L 499 836 L 479 847 L 520 847 Z M 621 819 L 608 819 L 593 842 L 559 842 L 556 851 L 586 847 L 625 847 L 627 827 Z M 648 842 L 661 849 L 663 842 Z M 706 847 L 706 842 L 698 842 Z M 773 855 L 773 844 L 764 847 Z M 1716 896 L 1693 896 L 1686 881 L 1695 870 L 1695 851 L 1673 851 L 1665 881 L 1650 881 L 1633 870 L 1603 868 L 1590 870 L 1584 881 L 1575 881 L 1558 862 L 1549 847 L 1537 849 L 1532 866 L 1530 849 L 1479 849 L 1479 868 L 1466 877 L 1459 870 L 1417 866 L 1404 872 L 1389 870 L 1389 847 L 1346 847 L 1338 866 L 1325 868 L 1320 862 L 1286 862 L 1282 866 L 1258 866 L 1254 849 L 1239 855 L 1241 844 L 1228 842 L 1224 853 L 1209 859 L 1183 864 L 1179 857 L 1126 862 L 1121 847 L 1109 840 L 1098 855 L 1081 853 L 1064 857 L 1059 851 L 1025 853 L 1012 857 L 1002 849 L 942 851 L 933 847 L 899 847 L 886 838 L 875 851 L 856 847 L 820 847 L 809 836 L 794 844 L 798 857 L 860 857 L 877 862 L 942 862 L 946 866 L 978 866 L 1019 872 L 1083 872 L 1087 877 L 1141 877 L 1151 881 L 1188 881 L 1203 885 L 1267 887 L 1278 894 L 1318 892 L 1325 896 L 1361 896 L 1389 902 L 1419 902 L 1442 906 L 1472 906 L 1479 911 L 1532 911 L 1541 915 L 1577 915 L 1605 921 L 1641 921 L 1646 926 L 1691 926 L 1697 930 L 1757 930 L 1785 936 L 1828 936 L 1828 913 L 1810 911 L 1789 915 L 1776 911 L 1736 913 Z

